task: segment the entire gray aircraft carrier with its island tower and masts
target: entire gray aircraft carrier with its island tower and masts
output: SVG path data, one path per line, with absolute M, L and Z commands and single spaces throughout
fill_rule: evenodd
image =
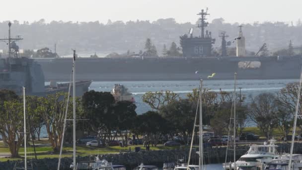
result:
M 201 34 L 180 36 L 183 57 L 129 57 L 129 58 L 79 58 L 77 59 L 77 76 L 79 79 L 97 81 L 167 81 L 196 80 L 198 76 L 207 78 L 216 73 L 214 80 L 237 79 L 298 79 L 302 64 L 301 56 L 246 56 L 245 39 L 239 28 L 236 41 L 236 56 L 227 56 L 226 32 L 221 32 L 222 55 L 212 53 L 212 38 L 206 16 L 208 11 L 200 13 L 197 27 Z M 67 80 L 70 72 L 66 67 L 68 58 L 36 59 L 44 70 L 47 80 Z M 195 75 L 198 71 L 200 75 Z

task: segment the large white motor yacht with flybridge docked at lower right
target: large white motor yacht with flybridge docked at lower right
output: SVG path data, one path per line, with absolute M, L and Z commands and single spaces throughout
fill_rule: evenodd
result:
M 264 170 L 264 167 L 279 158 L 278 147 L 275 140 L 270 140 L 270 144 L 251 145 L 245 155 L 236 161 L 238 170 Z M 223 164 L 224 170 L 234 170 L 234 163 Z

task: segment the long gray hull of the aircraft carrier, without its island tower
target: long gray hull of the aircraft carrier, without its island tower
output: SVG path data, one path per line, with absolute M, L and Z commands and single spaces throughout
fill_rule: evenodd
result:
M 45 80 L 69 81 L 71 58 L 36 59 Z M 261 62 L 259 68 L 239 68 L 244 61 Z M 206 79 L 298 79 L 302 58 L 295 57 L 179 57 L 179 58 L 78 58 L 76 79 L 93 81 L 176 81 Z M 199 75 L 195 74 L 198 71 Z

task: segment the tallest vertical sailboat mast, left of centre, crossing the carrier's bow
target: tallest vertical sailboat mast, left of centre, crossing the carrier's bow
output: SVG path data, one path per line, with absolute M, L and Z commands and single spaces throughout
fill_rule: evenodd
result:
M 73 132 L 73 136 L 74 136 L 74 170 L 76 169 L 76 164 L 75 164 L 75 50 L 74 50 L 74 72 L 73 72 L 73 113 L 74 113 L 74 120 L 73 120 L 73 124 L 74 124 L 74 132 Z

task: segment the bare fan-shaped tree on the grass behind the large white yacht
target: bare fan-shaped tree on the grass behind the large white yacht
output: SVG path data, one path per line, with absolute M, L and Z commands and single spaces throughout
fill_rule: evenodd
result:
M 248 114 L 261 132 L 269 139 L 273 128 L 276 127 L 275 114 L 277 112 L 276 96 L 272 93 L 261 93 L 250 104 Z

